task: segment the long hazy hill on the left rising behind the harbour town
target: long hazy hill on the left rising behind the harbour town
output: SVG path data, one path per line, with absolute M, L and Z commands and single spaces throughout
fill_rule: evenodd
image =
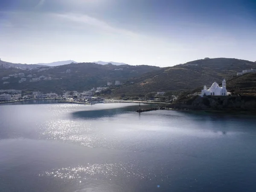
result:
M 116 70 L 115 70 L 116 69 Z M 120 70 L 122 69 L 122 70 Z M 93 87 L 103 87 L 107 82 L 115 83 L 116 80 L 125 84 L 132 83 L 129 79 L 143 76 L 160 70 L 160 67 L 139 65 L 101 65 L 95 63 L 67 64 L 56 67 L 41 67 L 34 70 L 5 69 L 0 72 L 0 89 L 41 90 L 44 93 L 54 91 L 61 93 L 63 90 L 83 91 Z M 10 77 L 2 80 L 3 76 L 14 73 L 24 73 L 26 81 L 18 83 L 21 77 Z M 49 78 L 50 77 L 50 78 Z M 41 78 L 30 82 L 32 78 Z M 8 84 L 3 84 L 8 81 Z

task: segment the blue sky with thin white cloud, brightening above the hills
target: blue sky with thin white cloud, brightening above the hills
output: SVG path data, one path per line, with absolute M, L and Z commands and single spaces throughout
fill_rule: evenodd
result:
M 0 58 L 160 67 L 256 61 L 256 0 L 0 0 Z

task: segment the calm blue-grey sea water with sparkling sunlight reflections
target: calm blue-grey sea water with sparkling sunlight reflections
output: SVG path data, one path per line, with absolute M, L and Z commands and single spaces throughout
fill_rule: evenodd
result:
M 0 105 L 0 192 L 256 191 L 255 117 L 137 108 Z

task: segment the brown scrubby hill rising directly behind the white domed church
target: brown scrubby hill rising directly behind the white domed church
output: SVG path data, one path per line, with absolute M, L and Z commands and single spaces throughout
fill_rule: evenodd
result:
M 221 83 L 225 79 L 236 77 L 236 72 L 256 68 L 256 63 L 235 58 L 212 58 L 190 61 L 174 67 L 167 67 L 157 75 L 121 87 L 114 95 L 136 96 L 149 92 L 192 90 L 214 81 Z M 228 86 L 228 85 L 227 85 Z

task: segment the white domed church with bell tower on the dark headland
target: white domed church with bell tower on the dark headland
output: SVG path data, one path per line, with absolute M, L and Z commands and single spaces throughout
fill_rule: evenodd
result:
M 206 85 L 204 85 L 204 89 L 202 90 L 201 96 L 204 95 L 216 95 L 216 96 L 227 96 L 227 89 L 226 89 L 226 81 L 225 79 L 222 81 L 222 87 L 218 86 L 218 83 L 214 82 L 212 86 L 207 89 Z

